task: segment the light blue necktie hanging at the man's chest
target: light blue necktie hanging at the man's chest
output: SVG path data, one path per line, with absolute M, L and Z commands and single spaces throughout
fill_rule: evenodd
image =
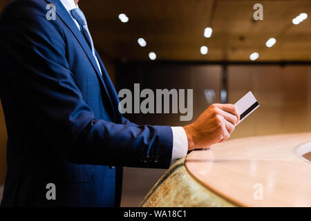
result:
M 95 48 L 93 44 L 93 39 L 91 37 L 91 33 L 88 30 L 88 23 L 86 22 L 86 18 L 84 16 L 84 13 L 79 8 L 75 8 L 73 10 L 70 10 L 71 16 L 77 20 L 77 23 L 79 23 L 79 26 L 81 28 L 81 32 L 84 35 L 84 38 L 88 42 L 88 45 L 90 46 L 93 56 L 95 58 L 95 61 L 97 63 L 98 68 L 100 69 L 100 73 L 102 73 L 102 70 L 100 68 L 100 64 L 98 63 L 97 57 L 95 55 Z

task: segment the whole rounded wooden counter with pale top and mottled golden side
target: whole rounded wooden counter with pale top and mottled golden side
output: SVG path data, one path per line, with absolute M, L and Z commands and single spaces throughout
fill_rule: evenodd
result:
M 311 206 L 311 162 L 299 151 L 308 142 L 311 133 L 271 135 L 192 151 L 142 206 Z

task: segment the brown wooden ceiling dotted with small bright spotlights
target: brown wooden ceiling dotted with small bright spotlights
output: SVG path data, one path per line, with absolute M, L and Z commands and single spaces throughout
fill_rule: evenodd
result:
M 263 4 L 263 21 L 252 18 L 255 3 Z M 113 59 L 148 60 L 154 51 L 160 60 L 249 61 L 256 51 L 257 61 L 311 61 L 311 1 L 81 0 L 79 6 L 97 48 Z M 301 12 L 309 17 L 295 26 Z M 122 23 L 120 13 L 129 22 Z M 206 27 L 213 28 L 209 39 Z M 270 37 L 276 44 L 267 48 Z M 204 45 L 207 55 L 200 54 Z

